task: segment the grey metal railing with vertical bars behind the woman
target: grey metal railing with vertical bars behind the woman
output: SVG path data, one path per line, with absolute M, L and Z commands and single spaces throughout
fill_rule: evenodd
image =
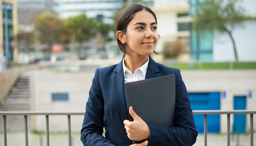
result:
M 207 146 L 207 115 L 211 114 L 226 114 L 227 115 L 227 146 L 230 146 L 230 114 L 250 114 L 250 146 L 253 146 L 253 114 L 256 111 L 251 110 L 195 110 L 194 115 L 204 115 L 204 146 Z M 28 130 L 27 130 L 27 115 L 45 115 L 46 118 L 46 143 L 49 146 L 49 115 L 67 115 L 68 116 L 68 145 L 71 146 L 71 115 L 84 115 L 84 112 L 0 112 L 3 116 L 4 128 L 4 146 L 7 146 L 7 131 L 6 131 L 6 116 L 23 115 L 25 122 L 25 142 L 28 146 Z

